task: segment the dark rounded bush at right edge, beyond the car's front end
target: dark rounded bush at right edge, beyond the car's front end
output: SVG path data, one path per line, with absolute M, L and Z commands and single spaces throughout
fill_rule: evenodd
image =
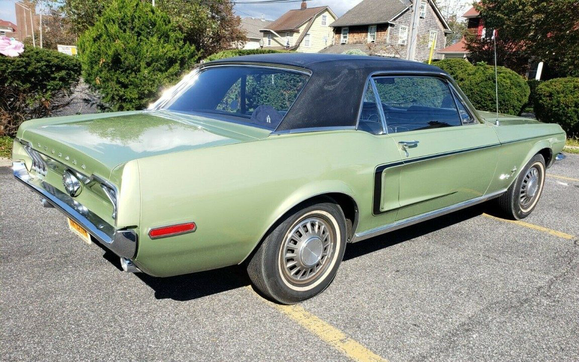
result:
M 537 86 L 534 109 L 541 122 L 559 123 L 567 136 L 579 136 L 579 78 L 555 78 Z

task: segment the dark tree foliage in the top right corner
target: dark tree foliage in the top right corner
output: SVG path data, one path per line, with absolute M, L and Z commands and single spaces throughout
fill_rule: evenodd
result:
M 497 30 L 497 60 L 522 72 L 529 58 L 545 61 L 555 74 L 579 75 L 577 0 L 481 0 L 475 4 L 487 29 Z M 493 63 L 487 39 L 467 38 L 474 61 Z

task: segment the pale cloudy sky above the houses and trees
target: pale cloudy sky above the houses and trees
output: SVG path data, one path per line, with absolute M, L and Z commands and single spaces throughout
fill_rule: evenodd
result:
M 244 0 L 247 1 L 247 0 Z M 342 16 L 347 10 L 353 8 L 361 0 L 310 0 L 307 2 L 308 8 L 328 5 L 337 16 Z M 472 0 L 438 0 L 438 4 L 449 4 L 450 8 L 457 9 L 462 13 L 468 9 Z M 270 3 L 270 4 L 237 4 L 235 9 L 241 17 L 265 17 L 267 20 L 275 20 L 281 14 L 291 9 L 299 9 L 299 2 L 288 3 Z M 12 21 L 16 24 L 16 15 L 14 14 L 14 0 L 0 0 L 0 19 Z

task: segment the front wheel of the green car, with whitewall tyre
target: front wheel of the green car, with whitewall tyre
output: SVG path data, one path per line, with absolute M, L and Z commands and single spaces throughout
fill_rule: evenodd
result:
M 545 184 L 545 159 L 534 155 L 515 182 L 497 199 L 504 217 L 519 220 L 527 217 L 537 206 Z

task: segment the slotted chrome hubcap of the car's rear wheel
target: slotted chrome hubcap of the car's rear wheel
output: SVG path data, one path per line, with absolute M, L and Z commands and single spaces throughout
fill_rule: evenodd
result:
M 328 221 L 309 217 L 290 230 L 281 248 L 281 270 L 294 283 L 307 283 L 324 272 L 334 252 L 335 237 Z

